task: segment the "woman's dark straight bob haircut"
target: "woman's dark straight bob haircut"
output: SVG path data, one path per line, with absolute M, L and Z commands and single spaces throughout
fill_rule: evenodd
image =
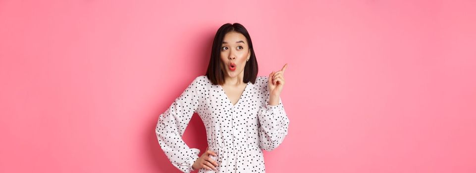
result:
M 213 85 L 222 85 L 225 83 L 225 76 L 223 74 L 224 69 L 222 69 L 222 61 L 220 58 L 221 44 L 226 33 L 231 31 L 241 33 L 246 38 L 251 55 L 250 59 L 246 61 L 243 72 L 243 82 L 251 82 L 252 84 L 255 84 L 258 75 L 258 61 L 256 60 L 255 50 L 253 50 L 253 43 L 251 43 L 250 34 L 248 34 L 246 28 L 239 23 L 226 23 L 216 31 L 212 44 L 212 55 L 210 57 L 206 76 L 210 81 L 212 81 Z

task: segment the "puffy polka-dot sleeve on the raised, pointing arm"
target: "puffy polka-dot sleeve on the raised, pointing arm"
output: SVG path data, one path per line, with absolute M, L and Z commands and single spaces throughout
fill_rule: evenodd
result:
M 267 81 L 267 79 L 266 79 Z M 267 86 L 267 83 L 265 83 Z M 266 151 L 277 148 L 288 134 L 289 119 L 279 97 L 279 104 L 269 105 L 269 92 L 265 91 L 265 101 L 258 111 L 260 120 L 259 138 L 260 147 Z

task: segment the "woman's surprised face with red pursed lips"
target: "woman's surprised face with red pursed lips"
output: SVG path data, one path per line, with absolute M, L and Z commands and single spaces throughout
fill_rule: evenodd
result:
M 250 55 L 251 51 L 243 34 L 234 31 L 226 33 L 220 50 L 225 77 L 236 77 L 242 74 Z

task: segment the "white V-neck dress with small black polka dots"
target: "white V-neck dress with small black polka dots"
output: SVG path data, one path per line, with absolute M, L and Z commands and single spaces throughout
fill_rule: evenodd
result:
M 258 76 L 248 82 L 235 105 L 220 85 L 207 76 L 199 76 L 163 112 L 155 132 L 159 145 L 170 162 L 184 173 L 193 171 L 199 158 L 198 148 L 189 148 L 182 140 L 193 113 L 202 118 L 207 131 L 208 149 L 218 156 L 217 171 L 200 169 L 199 173 L 264 173 L 262 149 L 278 147 L 288 133 L 289 119 L 279 104 L 268 104 L 268 77 Z

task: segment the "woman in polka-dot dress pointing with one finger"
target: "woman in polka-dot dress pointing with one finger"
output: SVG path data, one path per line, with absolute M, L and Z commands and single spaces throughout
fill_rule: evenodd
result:
M 239 23 L 216 32 L 205 76 L 199 76 L 160 115 L 156 134 L 171 163 L 184 173 L 264 173 L 263 151 L 278 147 L 289 119 L 281 102 L 287 64 L 269 76 L 258 74 L 248 31 Z M 208 148 L 182 140 L 193 113 L 205 123 Z

